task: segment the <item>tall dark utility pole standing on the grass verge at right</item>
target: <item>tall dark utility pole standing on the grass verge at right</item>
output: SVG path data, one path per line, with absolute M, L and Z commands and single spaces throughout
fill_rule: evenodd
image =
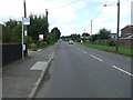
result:
M 116 30 L 116 48 L 115 48 L 116 51 L 119 51 L 119 32 L 120 32 L 120 0 L 117 0 L 117 30 Z

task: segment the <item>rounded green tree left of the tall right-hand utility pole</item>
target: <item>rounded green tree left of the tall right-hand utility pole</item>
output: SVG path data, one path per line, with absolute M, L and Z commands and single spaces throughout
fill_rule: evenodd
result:
M 110 33 L 111 33 L 111 31 L 106 30 L 105 28 L 100 29 L 100 31 L 99 31 L 99 39 L 100 40 L 110 39 Z

